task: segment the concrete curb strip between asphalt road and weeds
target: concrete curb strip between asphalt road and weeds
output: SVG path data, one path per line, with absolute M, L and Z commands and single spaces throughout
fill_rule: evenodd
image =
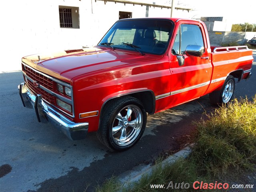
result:
M 179 152 L 173 154 L 172 156 L 169 156 L 165 160 L 162 161 L 161 166 L 164 167 L 166 164 L 172 164 L 176 162 L 179 158 L 187 158 L 188 155 L 192 151 L 192 147 L 194 144 L 190 144 L 186 148 L 180 150 Z M 152 170 L 156 168 L 159 164 L 156 165 L 139 165 L 134 167 L 132 170 L 124 172 L 118 176 L 118 181 L 120 181 L 124 186 L 127 186 L 128 184 L 131 184 L 132 182 L 138 182 L 142 175 L 147 174 L 148 176 L 152 173 Z

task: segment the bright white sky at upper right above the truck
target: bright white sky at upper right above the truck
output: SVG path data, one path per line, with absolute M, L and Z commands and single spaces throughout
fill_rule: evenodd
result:
M 151 0 L 169 4 L 172 0 Z M 150 0 L 148 0 L 149 3 Z M 190 17 L 224 17 L 227 22 L 256 24 L 256 0 L 174 0 L 177 7 L 192 8 Z M 175 17 L 175 15 L 174 15 Z

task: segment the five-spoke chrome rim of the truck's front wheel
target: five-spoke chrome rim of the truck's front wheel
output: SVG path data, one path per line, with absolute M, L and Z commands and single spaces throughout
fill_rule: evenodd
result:
M 142 128 L 142 111 L 136 105 L 128 105 L 118 112 L 112 124 L 111 135 L 119 146 L 131 144 Z

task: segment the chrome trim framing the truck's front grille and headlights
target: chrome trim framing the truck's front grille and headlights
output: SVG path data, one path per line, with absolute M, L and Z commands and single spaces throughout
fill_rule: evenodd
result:
M 47 88 L 45 88 L 44 86 L 42 86 L 42 85 L 39 84 L 39 88 L 41 88 L 42 90 L 48 92 L 49 94 L 55 96 L 55 97 L 58 98 L 58 99 L 60 99 L 60 100 L 62 100 L 62 101 L 64 101 L 64 102 L 70 104 L 70 105 L 72 106 L 72 115 L 70 115 L 70 114 L 68 114 L 67 112 L 63 111 L 63 110 L 62 110 L 61 108 L 59 108 L 58 106 L 54 106 L 54 105 L 52 105 L 52 106 L 58 108 L 61 112 L 65 113 L 66 115 L 68 115 L 68 116 L 74 118 L 74 117 L 75 117 L 75 115 L 74 115 L 75 112 L 74 112 L 74 100 L 73 100 L 73 86 L 71 86 L 70 84 L 67 84 L 67 83 L 65 83 L 65 82 L 62 82 L 62 81 L 60 81 L 60 80 L 57 80 L 57 79 L 55 79 L 55 78 L 53 78 L 53 77 L 51 77 L 51 76 L 48 76 L 48 75 L 46 75 L 46 74 L 44 74 L 44 73 L 42 73 L 42 72 L 40 72 L 40 71 L 38 71 L 38 70 L 36 70 L 36 69 L 30 67 L 30 66 L 28 66 L 28 65 L 27 65 L 26 63 L 24 63 L 24 62 L 22 62 L 22 64 L 23 64 L 25 67 L 30 68 L 30 69 L 33 70 L 34 72 L 36 72 L 36 73 L 38 73 L 38 74 L 41 74 L 42 76 L 45 76 L 45 77 L 49 78 L 49 79 L 52 80 L 52 81 L 54 81 L 54 82 L 56 82 L 56 83 L 58 83 L 58 84 L 61 84 L 61 85 L 63 85 L 63 86 L 66 86 L 66 87 L 70 88 L 72 97 L 71 97 L 71 99 L 69 100 L 68 98 L 65 98 L 65 97 L 63 97 L 63 96 L 61 96 L 61 95 L 59 95 L 59 94 L 56 94 L 56 93 L 52 92 L 51 90 L 48 90 Z M 22 73 L 24 74 L 24 76 L 25 76 L 26 78 L 28 78 L 28 80 L 30 80 L 31 82 L 34 82 L 34 80 L 31 79 L 30 77 L 28 77 L 28 76 L 25 74 L 24 71 L 22 71 Z

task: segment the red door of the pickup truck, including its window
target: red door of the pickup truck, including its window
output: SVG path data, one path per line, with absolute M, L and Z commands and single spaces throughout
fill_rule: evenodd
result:
M 209 84 L 212 66 L 210 53 L 207 50 L 205 34 L 202 33 L 202 24 L 198 22 L 180 24 L 176 30 L 175 40 L 172 44 L 170 55 L 170 106 L 199 98 Z M 188 45 L 204 47 L 201 57 L 187 56 L 185 53 Z M 184 56 L 184 65 L 178 62 L 177 56 Z

